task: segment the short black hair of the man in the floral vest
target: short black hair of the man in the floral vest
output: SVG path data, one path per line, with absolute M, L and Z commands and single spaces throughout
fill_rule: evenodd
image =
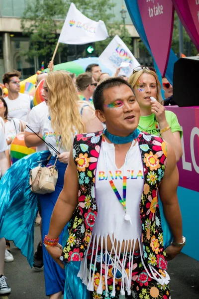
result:
M 93 103 L 95 109 L 103 111 L 103 103 L 104 103 L 103 91 L 105 89 L 115 87 L 115 86 L 121 86 L 121 85 L 127 85 L 132 90 L 131 85 L 121 77 L 108 78 L 102 81 L 94 91 Z

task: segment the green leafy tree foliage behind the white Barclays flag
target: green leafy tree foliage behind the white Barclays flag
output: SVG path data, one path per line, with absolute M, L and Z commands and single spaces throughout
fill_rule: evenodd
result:
M 120 35 L 124 42 L 131 48 L 131 38 L 126 28 L 119 22 L 111 22 L 114 14 L 111 8 L 114 3 L 111 0 L 74 0 L 76 7 L 86 16 L 98 21 L 103 20 L 109 32 L 108 39 L 96 42 L 96 53 L 100 53 L 108 45 L 115 34 Z M 23 52 L 28 59 L 41 57 L 46 63 L 52 57 L 59 32 L 63 26 L 68 12 L 70 0 L 28 0 L 26 9 L 21 18 L 23 34 L 30 37 L 30 49 Z M 69 52 L 70 47 L 60 44 L 58 52 Z M 64 53 L 66 57 L 66 53 Z

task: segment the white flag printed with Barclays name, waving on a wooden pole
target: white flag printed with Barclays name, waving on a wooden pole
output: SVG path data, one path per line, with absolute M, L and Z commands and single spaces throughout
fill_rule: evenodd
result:
M 83 45 L 104 40 L 108 32 L 103 21 L 93 21 L 71 3 L 58 42 Z

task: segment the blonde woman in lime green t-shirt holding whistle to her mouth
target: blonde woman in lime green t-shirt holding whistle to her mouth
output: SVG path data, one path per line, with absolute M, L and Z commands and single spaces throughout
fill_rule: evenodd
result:
M 140 106 L 138 129 L 152 135 L 161 136 L 175 150 L 176 160 L 183 154 L 181 137 L 183 131 L 177 116 L 165 110 L 161 97 L 161 85 L 155 69 L 136 67 L 128 79 Z M 158 144 L 157 144 L 158 145 Z

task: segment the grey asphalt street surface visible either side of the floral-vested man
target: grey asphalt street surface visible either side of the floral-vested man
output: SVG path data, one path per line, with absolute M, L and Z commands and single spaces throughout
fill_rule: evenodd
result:
M 35 248 L 39 242 L 39 227 L 35 227 Z M 43 272 L 30 269 L 17 248 L 12 247 L 14 262 L 5 264 L 5 276 L 11 287 L 8 299 L 44 299 Z M 180 254 L 169 264 L 172 299 L 199 299 L 199 262 Z M 0 298 L 1 299 L 1 298 Z M 4 299 L 4 298 L 3 298 Z

